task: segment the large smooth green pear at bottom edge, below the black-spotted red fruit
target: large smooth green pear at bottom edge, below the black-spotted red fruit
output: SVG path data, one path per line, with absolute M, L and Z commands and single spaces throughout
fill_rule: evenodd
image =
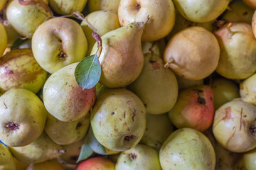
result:
M 210 140 L 198 130 L 182 128 L 171 133 L 160 149 L 163 170 L 215 168 L 215 152 Z

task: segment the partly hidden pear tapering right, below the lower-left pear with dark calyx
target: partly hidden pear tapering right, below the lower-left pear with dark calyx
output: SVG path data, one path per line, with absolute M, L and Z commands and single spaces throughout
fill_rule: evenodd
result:
M 20 162 L 36 164 L 59 157 L 65 153 L 60 145 L 55 144 L 45 132 L 38 139 L 23 147 L 9 147 L 11 154 Z

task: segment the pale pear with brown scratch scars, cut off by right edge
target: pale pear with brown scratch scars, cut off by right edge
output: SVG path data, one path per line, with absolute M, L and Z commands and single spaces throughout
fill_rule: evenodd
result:
M 256 147 L 256 106 L 233 99 L 215 112 L 213 134 L 231 152 L 247 152 Z

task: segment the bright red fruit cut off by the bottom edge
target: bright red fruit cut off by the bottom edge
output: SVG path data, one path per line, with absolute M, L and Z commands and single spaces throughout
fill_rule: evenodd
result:
M 93 157 L 81 162 L 76 170 L 114 170 L 114 163 L 103 157 Z

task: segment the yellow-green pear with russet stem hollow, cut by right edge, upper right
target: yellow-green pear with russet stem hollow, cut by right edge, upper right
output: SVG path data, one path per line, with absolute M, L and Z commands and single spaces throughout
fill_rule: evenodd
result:
M 256 39 L 249 24 L 225 24 L 215 37 L 220 44 L 218 74 L 228 79 L 246 79 L 256 71 Z

